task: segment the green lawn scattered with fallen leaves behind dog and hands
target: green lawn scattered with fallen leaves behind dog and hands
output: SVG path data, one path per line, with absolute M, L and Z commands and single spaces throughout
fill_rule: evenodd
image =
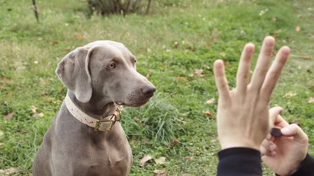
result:
M 147 16 L 124 18 L 89 17 L 85 0 L 41 0 L 37 23 L 30 0 L 0 0 L 0 142 L 5 144 L 0 146 L 0 169 L 19 168 L 15 175 L 22 176 L 31 172 L 36 150 L 66 94 L 54 73 L 56 64 L 70 50 L 96 40 L 125 44 L 138 58 L 138 71 L 150 74 L 157 87 L 157 96 L 148 105 L 124 112 L 122 123 L 134 156 L 131 176 L 153 176 L 155 169 L 166 170 L 169 176 L 214 176 L 219 151 L 216 122 L 202 113 L 215 116 L 217 108 L 205 103 L 218 97 L 212 64 L 216 59 L 229 62 L 227 77 L 233 88 L 244 44 L 254 43 L 258 53 L 262 39 L 275 34 L 275 50 L 288 45 L 291 57 L 271 105 L 282 106 L 287 120 L 301 122 L 310 138 L 309 153 L 314 154 L 314 103 L 308 103 L 314 97 L 313 1 L 158 2 Z M 265 13 L 260 16 L 262 10 Z M 296 26 L 301 31 L 296 32 Z M 254 63 L 256 58 L 257 54 Z M 206 76 L 190 77 L 194 68 L 204 69 Z M 296 95 L 283 98 L 289 91 Z M 6 120 L 9 112 L 15 115 Z M 43 117 L 38 117 L 40 112 Z M 178 145 L 171 144 L 175 139 Z M 142 168 L 139 159 L 144 154 L 165 156 L 169 164 L 152 161 Z M 194 159 L 186 160 L 186 156 Z M 265 176 L 274 176 L 264 170 Z

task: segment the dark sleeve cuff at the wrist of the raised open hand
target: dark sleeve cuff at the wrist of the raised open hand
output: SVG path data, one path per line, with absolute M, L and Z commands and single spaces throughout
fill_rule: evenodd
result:
M 261 153 L 250 148 L 230 148 L 218 153 L 217 176 L 262 176 Z

